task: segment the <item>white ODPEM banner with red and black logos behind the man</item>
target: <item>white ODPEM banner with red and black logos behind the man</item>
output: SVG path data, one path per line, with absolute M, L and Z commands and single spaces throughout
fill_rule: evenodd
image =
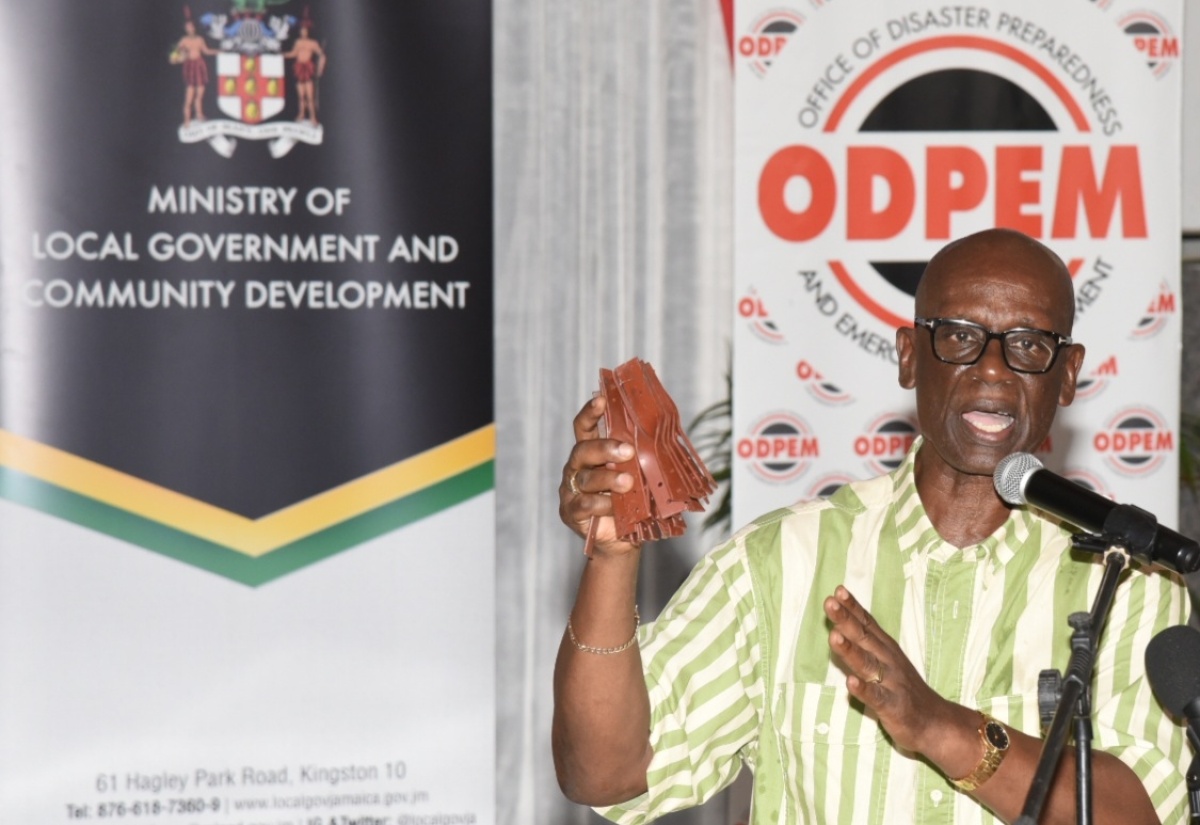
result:
M 1174 525 L 1182 4 L 736 14 L 736 524 L 896 465 L 916 279 L 1008 225 L 1068 263 L 1087 348 L 1040 457 Z

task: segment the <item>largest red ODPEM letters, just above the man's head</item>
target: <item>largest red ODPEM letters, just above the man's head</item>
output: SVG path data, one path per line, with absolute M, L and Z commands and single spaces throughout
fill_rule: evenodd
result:
M 1040 145 L 1001 145 L 988 153 L 947 145 L 926 146 L 914 159 L 887 146 L 848 146 L 835 169 L 818 149 L 796 144 L 763 165 L 758 209 L 772 233 L 796 242 L 829 229 L 839 197 L 850 240 L 887 240 L 911 230 L 922 200 L 920 231 L 929 240 L 948 240 L 956 215 L 989 205 L 991 223 L 1034 237 L 1045 236 L 1046 218 L 1055 239 L 1147 236 L 1138 146 L 1111 146 L 1103 158 L 1087 145 L 1048 153 L 1054 155 Z M 1043 186 L 1051 180 L 1052 193 Z M 806 198 L 794 197 L 798 183 Z

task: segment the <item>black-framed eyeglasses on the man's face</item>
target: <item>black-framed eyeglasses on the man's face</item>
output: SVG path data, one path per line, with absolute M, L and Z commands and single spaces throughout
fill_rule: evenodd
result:
M 986 326 L 958 318 L 916 318 L 917 326 L 929 330 L 929 342 L 938 361 L 965 366 L 983 357 L 992 338 L 1000 341 L 1004 363 L 1015 373 L 1049 372 L 1058 350 L 1073 342 L 1048 330 L 1006 330 L 992 332 Z

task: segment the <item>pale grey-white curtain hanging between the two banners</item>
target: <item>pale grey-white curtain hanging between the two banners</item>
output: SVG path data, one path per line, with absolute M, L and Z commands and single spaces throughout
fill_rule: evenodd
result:
M 498 821 L 594 823 L 550 753 L 583 565 L 556 489 L 601 367 L 649 361 L 685 423 L 725 396 L 731 64 L 718 0 L 498 0 L 493 14 Z M 643 616 L 715 538 L 696 522 L 643 555 Z M 664 821 L 732 823 L 724 802 Z

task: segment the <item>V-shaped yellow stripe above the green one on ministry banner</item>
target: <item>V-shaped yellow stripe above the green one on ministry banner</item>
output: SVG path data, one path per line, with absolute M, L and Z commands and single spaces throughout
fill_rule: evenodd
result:
M 149 481 L 0 429 L 0 465 L 258 558 L 496 457 L 496 424 L 250 519 Z

